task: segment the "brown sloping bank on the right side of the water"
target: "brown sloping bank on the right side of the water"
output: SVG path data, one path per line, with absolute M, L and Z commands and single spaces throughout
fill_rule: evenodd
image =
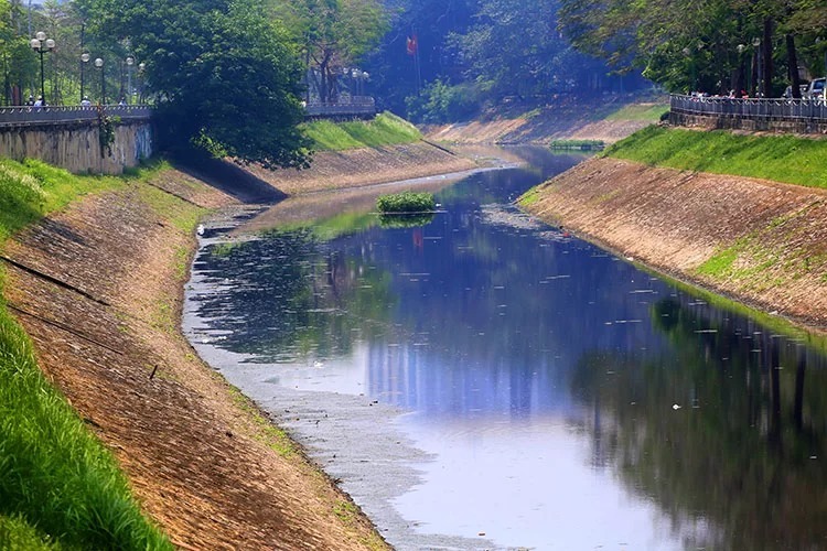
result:
M 827 328 L 824 191 L 592 159 L 522 204 L 678 279 Z

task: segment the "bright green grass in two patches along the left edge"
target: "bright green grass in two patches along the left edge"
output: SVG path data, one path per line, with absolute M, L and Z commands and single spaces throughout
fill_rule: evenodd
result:
M 140 177 L 140 176 L 139 176 Z M 0 242 L 122 179 L 0 161 Z M 141 515 L 112 455 L 43 377 L 0 306 L 0 549 L 172 549 Z

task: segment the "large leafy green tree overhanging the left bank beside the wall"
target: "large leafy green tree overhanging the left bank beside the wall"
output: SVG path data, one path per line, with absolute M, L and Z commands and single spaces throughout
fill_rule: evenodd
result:
M 253 0 L 79 0 L 90 32 L 129 37 L 162 143 L 265 166 L 308 164 L 299 52 Z

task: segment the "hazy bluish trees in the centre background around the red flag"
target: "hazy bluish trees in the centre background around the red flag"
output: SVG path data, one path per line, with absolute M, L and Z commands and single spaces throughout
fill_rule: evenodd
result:
M 560 95 L 642 84 L 576 52 L 558 30 L 558 0 L 397 3 L 369 67 L 385 105 L 415 120 L 457 120 L 488 106 L 554 104 Z

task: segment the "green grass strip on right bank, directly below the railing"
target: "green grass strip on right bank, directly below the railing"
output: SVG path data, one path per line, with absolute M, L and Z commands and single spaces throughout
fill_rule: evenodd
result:
M 603 153 L 649 165 L 827 188 L 827 140 L 648 127 Z

